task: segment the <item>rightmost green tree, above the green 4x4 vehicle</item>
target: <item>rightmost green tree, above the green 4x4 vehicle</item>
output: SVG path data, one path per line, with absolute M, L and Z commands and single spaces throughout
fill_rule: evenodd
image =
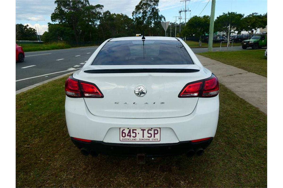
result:
M 257 31 L 258 28 L 265 28 L 266 25 L 267 13 L 261 15 L 255 12 L 243 18 L 241 30 L 245 30 L 250 34 L 252 30 Z

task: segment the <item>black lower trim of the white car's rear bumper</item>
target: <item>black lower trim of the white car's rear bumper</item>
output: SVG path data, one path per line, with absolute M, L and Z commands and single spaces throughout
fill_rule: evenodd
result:
M 146 157 L 160 157 L 170 155 L 181 155 L 187 153 L 190 149 L 202 147 L 206 149 L 212 142 L 209 140 L 193 143 L 191 141 L 183 141 L 178 143 L 166 144 L 128 144 L 128 143 L 106 143 L 103 141 L 91 141 L 90 143 L 72 139 L 72 142 L 81 149 L 86 148 L 88 152 L 95 151 L 100 154 L 136 157 L 138 153 L 144 153 Z

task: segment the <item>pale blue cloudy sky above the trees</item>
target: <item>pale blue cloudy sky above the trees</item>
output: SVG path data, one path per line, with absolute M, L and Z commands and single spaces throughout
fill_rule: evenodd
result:
M 104 11 L 111 13 L 123 13 L 132 17 L 132 12 L 140 0 L 89 0 L 91 5 L 104 5 Z M 48 30 L 47 23 L 52 23 L 50 16 L 55 9 L 54 0 L 16 0 L 16 24 L 28 24 L 35 28 L 38 23 L 40 34 Z M 209 15 L 211 11 L 211 0 L 190 0 L 186 2 L 186 8 L 191 10 L 186 14 L 186 21 L 190 16 Z M 179 16 L 179 10 L 185 9 L 185 2 L 180 0 L 160 0 L 159 14 L 165 16 L 166 21 L 175 22 L 173 16 Z M 223 12 L 237 12 L 245 16 L 257 12 L 267 13 L 267 0 L 216 0 L 215 19 Z M 185 21 L 185 13 L 181 14 L 182 21 Z M 38 21 L 38 22 L 36 22 Z M 177 18 L 177 23 L 179 20 Z

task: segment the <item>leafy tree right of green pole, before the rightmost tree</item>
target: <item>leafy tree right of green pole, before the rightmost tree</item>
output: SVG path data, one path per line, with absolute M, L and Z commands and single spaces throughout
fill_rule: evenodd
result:
M 214 30 L 219 32 L 224 32 L 228 35 L 233 32 L 241 30 L 242 18 L 244 14 L 237 14 L 237 12 L 223 13 L 222 15 L 216 17 L 214 22 Z M 230 25 L 230 27 L 229 27 Z

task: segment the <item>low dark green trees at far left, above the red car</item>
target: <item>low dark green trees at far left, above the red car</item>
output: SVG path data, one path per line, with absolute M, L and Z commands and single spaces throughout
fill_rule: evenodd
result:
M 37 32 L 29 25 L 16 24 L 16 40 L 35 41 L 37 40 Z

